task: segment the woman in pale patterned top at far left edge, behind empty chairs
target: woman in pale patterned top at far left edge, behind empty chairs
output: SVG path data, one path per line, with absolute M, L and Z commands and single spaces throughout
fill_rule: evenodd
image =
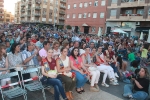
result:
M 0 75 L 8 73 L 8 71 L 4 71 L 8 69 L 8 62 L 6 60 L 6 48 L 4 44 L 0 44 Z M 2 79 L 1 86 L 6 84 L 10 84 L 10 78 Z

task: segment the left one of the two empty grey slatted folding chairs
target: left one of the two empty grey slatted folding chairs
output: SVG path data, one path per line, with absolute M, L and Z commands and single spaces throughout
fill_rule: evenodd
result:
M 16 98 L 16 97 L 23 96 L 24 99 L 27 100 L 27 96 L 26 96 L 27 91 L 25 89 L 23 89 L 22 86 L 21 87 L 16 86 L 16 85 L 19 85 L 19 84 L 21 85 L 18 72 L 2 74 L 2 75 L 0 75 L 0 80 L 1 79 L 6 79 L 6 78 L 11 78 L 13 76 L 18 76 L 19 81 L 8 84 L 8 85 L 5 85 L 5 86 L 0 86 L 2 99 L 3 100 L 4 100 L 4 98 L 13 99 L 13 98 Z M 3 90 L 5 88 L 11 87 L 11 86 L 13 86 L 13 87 L 16 86 L 16 87 L 14 87 L 12 89 L 9 89 L 9 90 L 6 90 L 6 91 Z

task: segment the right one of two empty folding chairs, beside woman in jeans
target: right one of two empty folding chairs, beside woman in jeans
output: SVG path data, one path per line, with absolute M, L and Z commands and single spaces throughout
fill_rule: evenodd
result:
M 33 77 L 33 78 L 29 78 L 29 79 L 26 79 L 26 80 L 23 79 L 23 74 L 32 73 L 32 72 L 37 72 L 38 76 Z M 30 69 L 22 70 L 21 71 L 21 77 L 22 77 L 22 83 L 23 83 L 24 89 L 26 88 L 27 90 L 29 90 L 31 92 L 37 91 L 37 90 L 42 90 L 43 98 L 44 98 L 44 100 L 46 100 L 44 87 L 43 87 L 43 85 L 42 85 L 42 83 L 40 82 L 40 79 L 39 79 L 40 76 L 39 76 L 38 68 L 32 67 Z M 37 81 L 34 81 L 34 80 L 37 80 Z M 31 82 L 31 83 L 25 84 L 25 82 Z

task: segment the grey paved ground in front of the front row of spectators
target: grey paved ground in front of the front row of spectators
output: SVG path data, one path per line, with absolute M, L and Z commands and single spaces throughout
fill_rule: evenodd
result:
M 150 71 L 150 67 L 148 67 L 148 69 Z M 100 92 L 90 92 L 89 91 L 90 86 L 87 83 L 84 87 L 86 91 L 85 93 L 77 94 L 75 91 L 73 91 L 74 100 L 127 100 L 122 97 L 123 86 L 125 85 L 125 83 L 119 82 L 120 84 L 119 86 L 110 85 L 109 88 L 102 87 L 101 86 L 102 77 L 103 75 L 101 75 L 100 82 L 99 82 L 99 86 L 101 89 Z M 106 83 L 108 83 L 108 80 L 106 81 Z M 53 89 L 45 90 L 45 92 L 46 92 L 47 100 L 54 100 Z M 43 100 L 41 91 L 28 92 L 27 96 L 28 96 L 28 100 Z M 23 100 L 23 97 L 15 98 L 13 100 Z

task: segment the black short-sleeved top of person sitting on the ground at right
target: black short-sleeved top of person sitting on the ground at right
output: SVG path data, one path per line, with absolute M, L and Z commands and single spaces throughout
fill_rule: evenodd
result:
M 142 89 L 138 88 L 136 85 L 134 85 L 134 90 L 135 91 L 144 91 L 146 93 L 148 93 L 148 89 L 149 89 L 149 80 L 146 78 L 138 78 L 136 79 L 140 85 L 143 87 Z

